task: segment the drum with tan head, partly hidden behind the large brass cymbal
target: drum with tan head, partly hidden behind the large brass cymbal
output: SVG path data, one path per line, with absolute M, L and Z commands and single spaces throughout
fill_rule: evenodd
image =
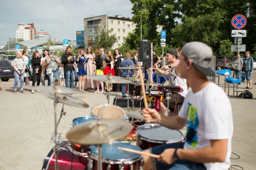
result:
M 103 119 L 126 120 L 126 111 L 112 104 L 98 104 L 92 108 L 91 116 L 101 116 Z

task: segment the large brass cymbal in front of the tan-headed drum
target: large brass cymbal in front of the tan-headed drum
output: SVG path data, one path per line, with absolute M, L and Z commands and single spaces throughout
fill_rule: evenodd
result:
M 99 145 L 117 141 L 131 130 L 131 124 L 123 120 L 90 120 L 71 128 L 66 137 L 70 142 L 76 144 Z

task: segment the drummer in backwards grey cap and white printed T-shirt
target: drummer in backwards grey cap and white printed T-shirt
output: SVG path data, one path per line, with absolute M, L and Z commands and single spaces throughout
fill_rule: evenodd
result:
M 155 109 L 143 109 L 145 122 L 179 130 L 187 127 L 186 141 L 163 144 L 144 152 L 160 157 L 144 156 L 144 169 L 157 170 L 227 170 L 230 166 L 233 135 L 232 107 L 221 87 L 207 80 L 214 76 L 209 68 L 210 47 L 200 42 L 184 45 L 178 64 L 179 73 L 190 89 L 178 116 L 166 117 Z M 164 134 L 163 134 L 164 135 Z

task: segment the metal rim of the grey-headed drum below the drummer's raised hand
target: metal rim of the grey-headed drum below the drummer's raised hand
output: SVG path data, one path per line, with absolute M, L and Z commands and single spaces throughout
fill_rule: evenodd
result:
M 179 141 L 182 140 L 183 134 L 182 134 L 182 132 L 180 130 L 176 130 L 176 131 L 178 131 L 181 134 L 181 137 L 177 138 L 177 139 L 170 139 L 170 140 L 153 140 L 153 139 L 149 139 L 147 137 L 144 137 L 144 136 L 140 135 L 137 132 L 138 129 L 141 129 L 141 128 L 146 127 L 146 126 L 162 126 L 162 125 L 160 125 L 160 124 L 147 124 L 147 125 L 141 125 L 141 126 L 137 127 L 137 129 L 135 131 L 137 139 L 140 138 L 140 139 L 143 139 L 143 140 L 145 140 L 147 142 L 155 142 L 155 143 L 162 143 L 162 144 L 171 144 L 171 143 L 176 143 L 176 142 L 179 142 Z M 162 126 L 162 127 L 164 127 L 164 126 Z

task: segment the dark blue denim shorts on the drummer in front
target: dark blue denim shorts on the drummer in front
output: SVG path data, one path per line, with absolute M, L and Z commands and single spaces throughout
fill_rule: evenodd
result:
M 150 153 L 160 155 L 165 149 L 169 148 L 184 148 L 184 142 L 162 144 L 149 149 Z M 157 158 L 152 158 L 156 170 L 206 170 L 203 163 L 194 163 L 185 160 L 179 160 L 168 165 L 166 163 L 158 162 Z

